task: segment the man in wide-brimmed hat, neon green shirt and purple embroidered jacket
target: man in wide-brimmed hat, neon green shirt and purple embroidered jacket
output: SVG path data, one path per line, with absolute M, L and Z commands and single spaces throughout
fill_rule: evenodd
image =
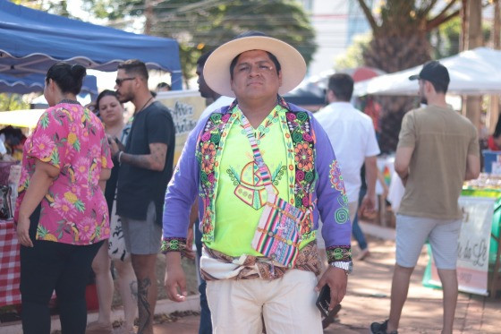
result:
M 204 66 L 208 86 L 236 99 L 186 142 L 166 193 L 163 251 L 167 295 L 183 301 L 180 259 L 198 196 L 216 333 L 260 333 L 261 317 L 268 333 L 321 333 L 315 290 L 330 287 L 331 309 L 346 293 L 351 223 L 340 168 L 310 112 L 279 95 L 305 72 L 295 48 L 266 36 L 231 40 Z M 318 218 L 331 265 L 317 282 Z

